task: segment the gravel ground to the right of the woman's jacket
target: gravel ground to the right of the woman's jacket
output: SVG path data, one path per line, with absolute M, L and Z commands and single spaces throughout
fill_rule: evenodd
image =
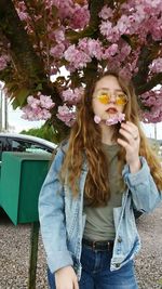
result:
M 138 220 L 141 251 L 136 258 L 139 289 L 162 289 L 162 206 Z

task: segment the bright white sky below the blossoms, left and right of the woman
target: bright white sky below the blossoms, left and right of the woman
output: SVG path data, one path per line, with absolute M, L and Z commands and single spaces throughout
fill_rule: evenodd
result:
M 23 113 L 19 109 L 13 110 L 9 107 L 9 126 L 11 131 L 21 132 L 22 130 L 28 130 L 30 128 L 40 128 L 44 121 L 29 121 L 24 120 L 21 116 Z M 154 139 L 154 124 L 141 123 L 141 128 L 148 137 Z M 162 122 L 157 123 L 157 139 L 162 140 Z

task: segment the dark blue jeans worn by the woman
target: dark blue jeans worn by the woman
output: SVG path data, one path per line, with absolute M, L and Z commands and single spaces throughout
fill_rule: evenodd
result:
M 80 289 L 137 289 L 134 262 L 130 261 L 118 271 L 110 272 L 111 251 L 93 250 L 83 245 Z M 56 289 L 54 275 L 48 271 L 51 289 Z

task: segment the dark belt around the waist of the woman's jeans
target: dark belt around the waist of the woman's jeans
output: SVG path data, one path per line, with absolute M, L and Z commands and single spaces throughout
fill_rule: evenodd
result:
M 87 247 L 90 247 L 91 249 L 93 250 L 112 250 L 113 249 L 113 240 L 104 240 L 104 241 L 100 241 L 100 240 L 89 240 L 89 239 L 82 239 L 82 244 L 83 245 L 86 245 Z

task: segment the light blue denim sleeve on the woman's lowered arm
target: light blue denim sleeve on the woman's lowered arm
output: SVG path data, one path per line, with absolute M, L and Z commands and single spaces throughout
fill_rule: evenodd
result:
M 39 196 L 39 220 L 43 245 L 48 255 L 48 265 L 54 273 L 60 267 L 73 265 L 66 244 L 64 214 L 64 187 L 59 181 L 59 171 L 64 153 L 58 149 Z

